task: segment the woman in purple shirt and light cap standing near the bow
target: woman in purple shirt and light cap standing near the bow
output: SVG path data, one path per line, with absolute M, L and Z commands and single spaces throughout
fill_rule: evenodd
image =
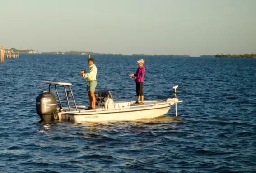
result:
M 136 82 L 136 93 L 137 93 L 137 101 L 135 102 L 136 104 L 144 105 L 144 94 L 143 94 L 143 77 L 145 74 L 145 68 L 143 67 L 143 64 L 145 63 L 144 59 L 140 59 L 137 61 L 138 65 L 140 66 L 136 74 L 130 74 L 130 77 L 135 78 Z M 141 102 L 140 102 L 140 97 L 141 97 Z

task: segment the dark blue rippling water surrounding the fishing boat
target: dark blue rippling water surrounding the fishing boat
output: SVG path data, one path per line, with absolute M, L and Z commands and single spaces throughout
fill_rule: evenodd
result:
M 73 83 L 88 104 L 79 71 L 86 55 L 20 55 L 0 64 L 1 173 L 255 173 L 256 59 L 143 57 L 145 100 L 182 103 L 165 116 L 109 123 L 40 123 L 40 81 Z M 135 56 L 91 56 L 97 90 L 135 100 L 128 76 Z

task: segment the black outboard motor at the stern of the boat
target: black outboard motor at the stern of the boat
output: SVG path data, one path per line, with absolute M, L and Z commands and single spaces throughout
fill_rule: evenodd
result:
M 58 106 L 55 96 L 49 92 L 42 91 L 39 96 L 37 96 L 37 114 L 40 116 L 41 120 L 49 121 L 52 115 L 56 111 Z

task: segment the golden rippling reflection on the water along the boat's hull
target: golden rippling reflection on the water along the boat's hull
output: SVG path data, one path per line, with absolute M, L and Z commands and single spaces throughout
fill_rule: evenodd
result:
M 94 138 L 95 136 L 100 136 L 103 133 L 109 132 L 118 132 L 118 129 L 125 129 L 127 133 L 133 132 L 147 132 L 148 126 L 154 126 L 154 128 L 161 128 L 165 123 L 179 123 L 183 120 L 178 117 L 167 117 L 159 116 L 157 118 L 144 118 L 136 121 L 106 121 L 106 122 L 72 122 L 67 120 L 54 120 L 49 122 L 39 123 L 42 126 L 39 126 L 37 130 L 38 133 L 45 133 L 48 137 L 63 135 L 66 129 L 77 130 L 79 129 L 79 134 L 65 134 L 64 136 L 68 137 L 83 137 L 83 138 Z M 169 128 L 175 129 L 176 125 L 171 124 Z M 82 134 L 81 134 L 82 133 Z

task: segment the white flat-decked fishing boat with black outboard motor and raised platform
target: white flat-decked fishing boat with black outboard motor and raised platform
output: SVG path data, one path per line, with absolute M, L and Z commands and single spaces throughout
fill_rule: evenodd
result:
M 155 118 L 168 113 L 172 105 L 175 105 L 177 116 L 177 103 L 182 102 L 176 95 L 178 85 L 173 87 L 175 97 L 144 101 L 144 105 L 135 104 L 135 101 L 114 101 L 110 91 L 101 90 L 95 94 L 96 109 L 86 110 L 87 106 L 76 104 L 71 83 L 42 81 L 42 84 L 49 85 L 48 91 L 42 91 L 36 99 L 37 114 L 43 121 L 122 121 Z M 58 86 L 64 89 L 64 101 L 61 101 Z M 51 91 L 52 88 L 54 91 Z M 64 107 L 64 104 L 67 106 Z

